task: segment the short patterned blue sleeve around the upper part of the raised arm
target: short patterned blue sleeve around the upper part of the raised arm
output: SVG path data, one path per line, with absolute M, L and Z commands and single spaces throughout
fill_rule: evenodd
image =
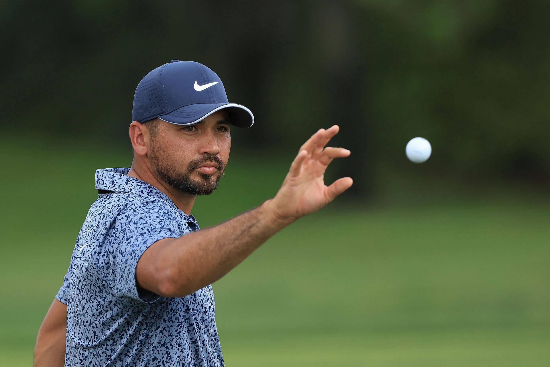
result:
M 113 232 L 113 291 L 118 297 L 148 303 L 161 297 L 138 287 L 136 266 L 150 245 L 169 237 L 180 237 L 177 222 L 173 211 L 158 201 L 134 204 L 119 213 Z

